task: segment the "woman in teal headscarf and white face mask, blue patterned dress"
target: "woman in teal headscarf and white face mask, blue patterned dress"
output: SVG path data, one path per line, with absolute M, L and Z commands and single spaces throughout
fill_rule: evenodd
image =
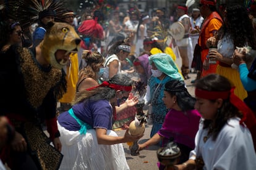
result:
M 153 137 L 156 132 L 162 127 L 164 118 L 168 110 L 163 102 L 164 85 L 173 79 L 183 80 L 181 73 L 171 57 L 168 54 L 159 53 L 148 57 L 152 66 L 152 75 L 148 80 L 147 93 L 144 97 L 145 104 L 151 104 L 153 127 L 150 132 L 150 137 Z

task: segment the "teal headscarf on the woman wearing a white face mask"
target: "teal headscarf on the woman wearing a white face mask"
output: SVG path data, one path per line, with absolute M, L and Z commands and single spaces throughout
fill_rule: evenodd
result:
M 168 75 L 169 77 L 173 79 L 183 80 L 170 55 L 165 53 L 158 53 L 150 55 L 150 57 L 148 57 L 148 60 L 150 64 L 155 63 L 156 68 L 162 71 L 164 74 Z

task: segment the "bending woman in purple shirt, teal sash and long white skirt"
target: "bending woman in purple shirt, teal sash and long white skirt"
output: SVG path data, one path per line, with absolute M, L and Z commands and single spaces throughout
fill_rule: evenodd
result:
M 58 117 L 64 155 L 60 169 L 129 169 L 121 143 L 142 136 L 130 136 L 127 130 L 119 137 L 111 131 L 111 105 L 131 90 L 130 78 L 117 74 L 76 95 L 73 107 Z

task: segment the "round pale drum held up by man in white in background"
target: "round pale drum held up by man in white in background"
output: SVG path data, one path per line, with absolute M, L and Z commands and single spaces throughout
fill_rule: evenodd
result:
M 169 27 L 169 33 L 173 36 L 173 39 L 180 40 L 184 37 L 185 28 L 181 22 L 174 22 Z

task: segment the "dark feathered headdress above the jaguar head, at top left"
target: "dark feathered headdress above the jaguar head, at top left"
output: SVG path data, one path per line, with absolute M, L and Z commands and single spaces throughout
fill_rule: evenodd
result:
M 9 0 L 6 7 L 8 8 L 8 16 L 14 20 L 19 20 L 22 26 L 30 26 L 35 23 L 38 18 L 43 16 L 46 10 L 54 12 L 53 16 L 62 14 L 64 10 L 64 1 L 58 0 Z

